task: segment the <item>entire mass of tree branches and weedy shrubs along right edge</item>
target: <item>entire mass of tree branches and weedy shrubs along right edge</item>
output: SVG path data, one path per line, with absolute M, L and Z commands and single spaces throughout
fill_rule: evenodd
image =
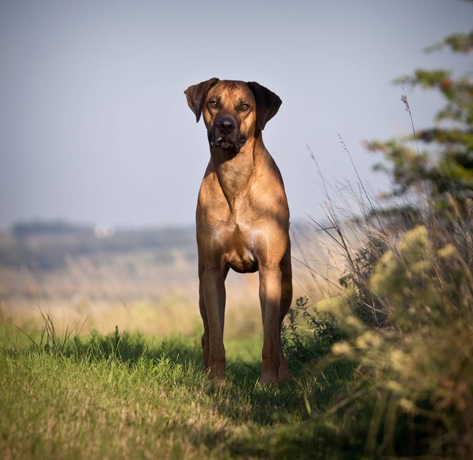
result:
M 469 53 L 472 43 L 473 32 L 456 34 L 431 51 Z M 473 82 L 443 69 L 419 69 L 397 82 L 435 89 L 446 106 L 435 127 L 416 131 L 404 94 L 412 135 L 368 144 L 388 160 L 396 185 L 391 195 L 408 197 L 410 205 L 372 207 L 360 227 L 364 247 L 353 255 L 344 245 L 347 270 L 332 311 L 348 335 L 332 353 L 352 360 L 359 380 L 350 383 L 352 397 L 338 403 L 338 427 L 346 430 L 340 442 L 358 433 L 362 445 L 350 445 L 367 458 L 470 459 Z M 419 194 L 426 195 L 428 212 L 412 199 Z M 356 411 L 362 416 L 356 418 Z M 351 425 L 343 425 L 350 417 Z M 305 429 L 316 436 L 315 421 Z

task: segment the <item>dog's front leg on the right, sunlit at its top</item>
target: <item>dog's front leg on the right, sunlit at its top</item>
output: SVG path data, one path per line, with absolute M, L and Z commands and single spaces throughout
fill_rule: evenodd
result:
M 278 384 L 279 369 L 279 303 L 281 301 L 281 270 L 260 268 L 260 302 L 263 316 L 262 385 Z

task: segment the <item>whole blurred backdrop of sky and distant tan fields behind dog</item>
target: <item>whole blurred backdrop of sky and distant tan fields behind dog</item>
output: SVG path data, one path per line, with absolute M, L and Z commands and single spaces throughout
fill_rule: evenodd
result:
M 103 332 L 196 328 L 209 152 L 183 91 L 213 76 L 281 97 L 264 140 L 291 209 L 295 296 L 332 295 L 343 261 L 307 214 L 324 219 L 321 176 L 329 193 L 355 177 L 338 133 L 382 194 L 363 142 L 411 130 L 393 78 L 465 72 L 461 56 L 423 50 L 471 19 L 455 0 L 2 1 L 2 311 L 27 322 L 50 309 Z M 416 126 L 432 123 L 439 95 L 409 91 Z M 258 330 L 257 274 L 227 285 L 228 333 Z

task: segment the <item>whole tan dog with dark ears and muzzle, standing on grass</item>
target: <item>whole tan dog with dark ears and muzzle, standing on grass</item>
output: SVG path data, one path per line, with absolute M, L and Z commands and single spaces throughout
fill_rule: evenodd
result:
M 281 347 L 281 324 L 292 300 L 289 208 L 279 169 L 262 131 L 281 100 L 254 81 L 211 78 L 184 91 L 203 115 L 210 145 L 197 202 L 199 307 L 203 367 L 225 379 L 225 279 L 259 271 L 263 317 L 261 384 L 291 379 Z

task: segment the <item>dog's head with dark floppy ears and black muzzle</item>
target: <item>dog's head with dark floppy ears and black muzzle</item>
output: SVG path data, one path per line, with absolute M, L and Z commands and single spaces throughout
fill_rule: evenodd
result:
M 258 137 L 281 105 L 276 94 L 255 81 L 210 78 L 184 94 L 197 121 L 203 114 L 210 146 L 234 151 Z

